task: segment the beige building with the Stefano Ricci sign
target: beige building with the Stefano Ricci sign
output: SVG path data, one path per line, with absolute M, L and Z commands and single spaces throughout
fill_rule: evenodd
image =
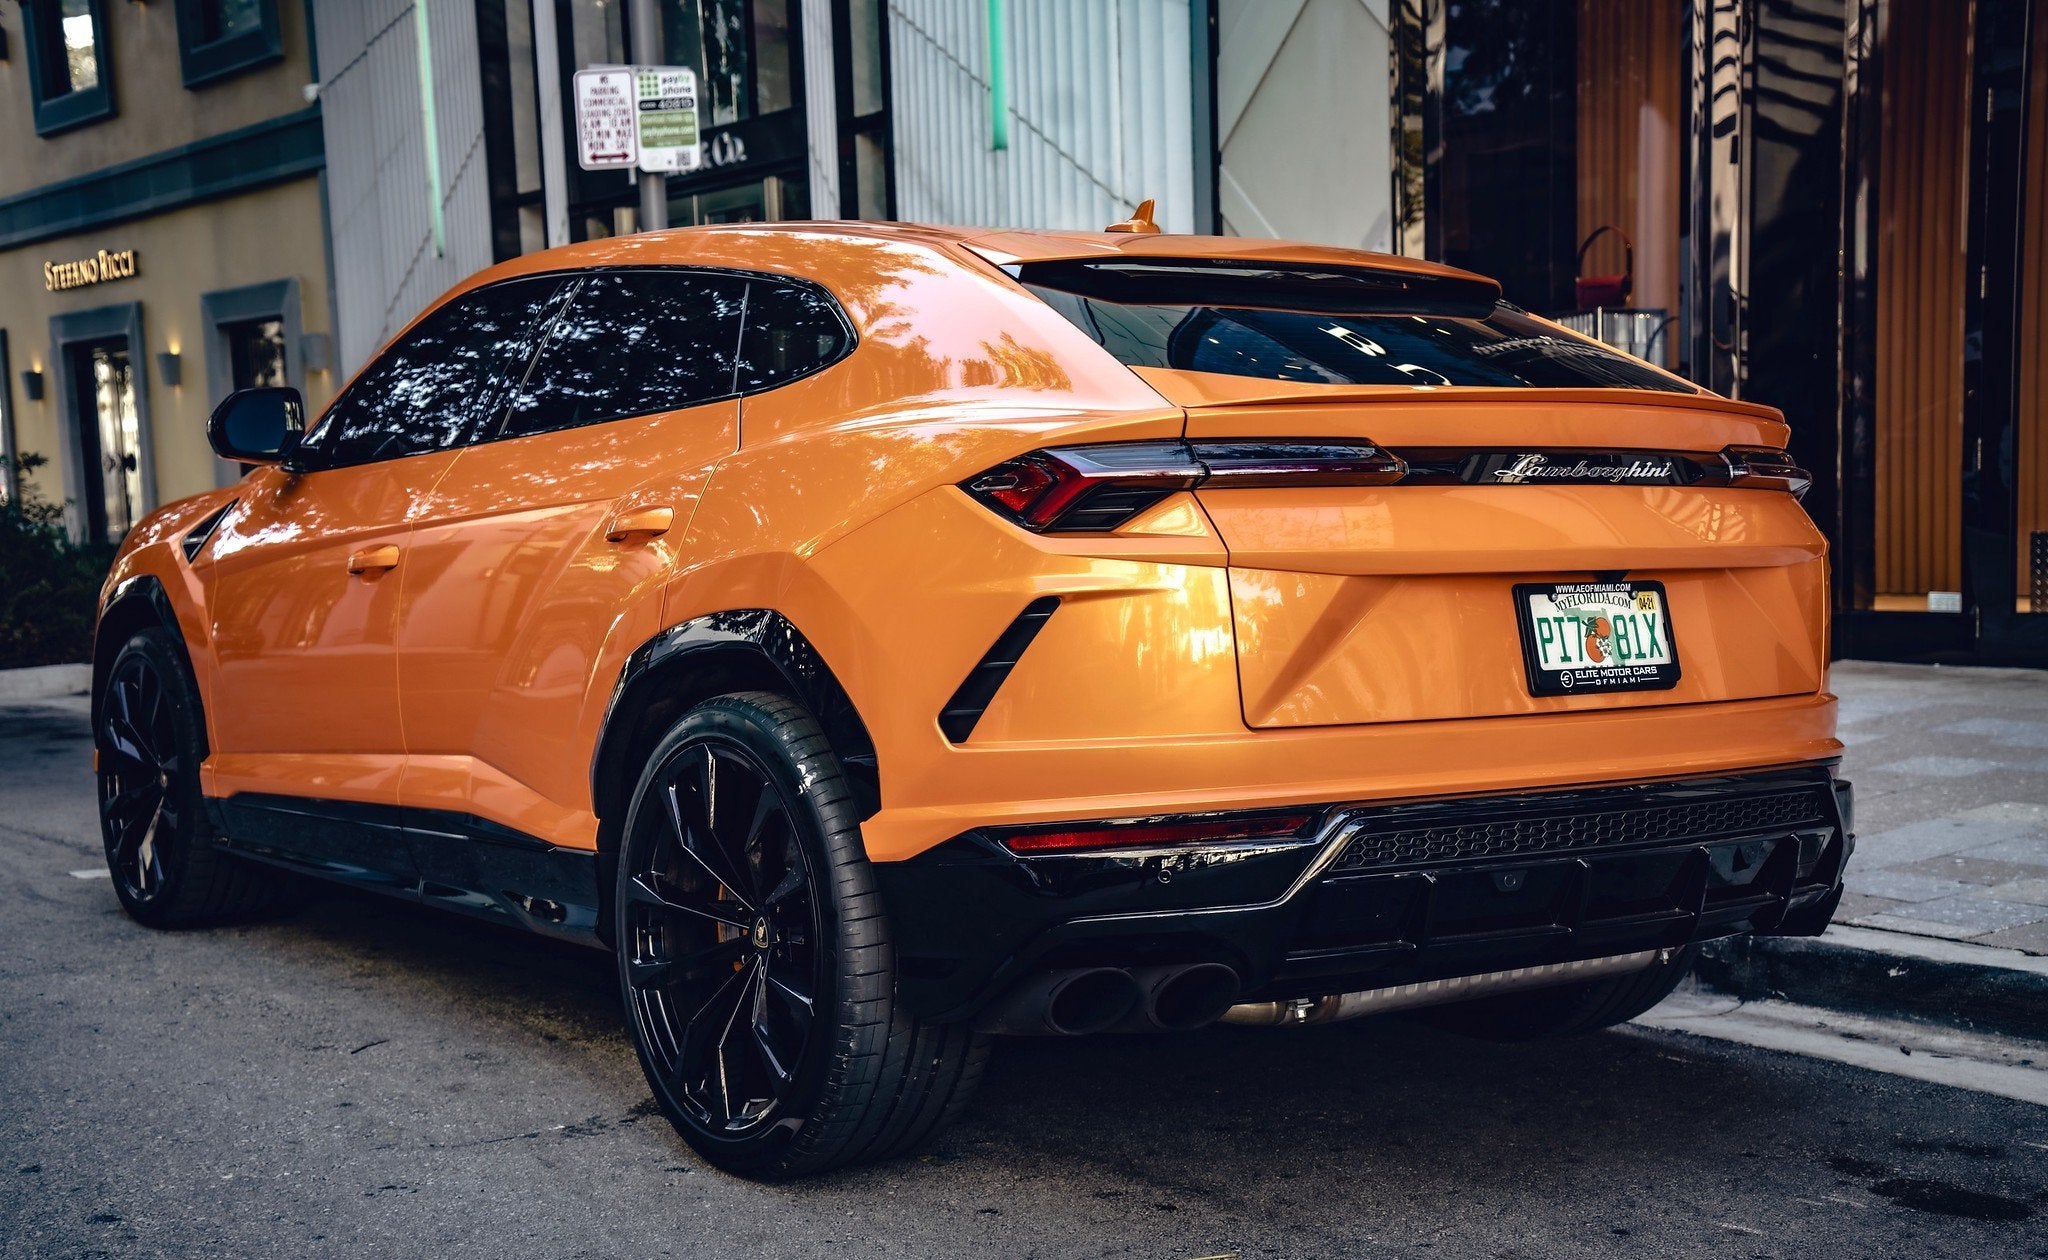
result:
M 315 80 L 305 0 L 0 6 L 0 494 L 119 539 L 227 391 L 334 391 Z

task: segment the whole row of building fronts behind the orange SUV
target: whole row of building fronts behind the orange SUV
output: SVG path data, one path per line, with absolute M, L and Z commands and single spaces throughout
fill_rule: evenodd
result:
M 0 33 L 0 440 L 80 535 L 231 473 L 225 387 L 317 408 L 477 268 L 637 232 L 571 76 L 651 45 L 700 84 L 672 225 L 1157 199 L 1470 266 L 1786 412 L 1839 654 L 2048 666 L 2048 0 L 25 0 Z

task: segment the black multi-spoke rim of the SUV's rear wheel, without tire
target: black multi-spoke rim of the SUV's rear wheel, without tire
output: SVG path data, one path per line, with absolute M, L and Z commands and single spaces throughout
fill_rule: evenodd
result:
M 791 805 L 739 742 L 680 746 L 621 883 L 627 985 L 655 1072 L 690 1123 L 741 1137 L 786 1121 L 825 988 L 815 877 Z

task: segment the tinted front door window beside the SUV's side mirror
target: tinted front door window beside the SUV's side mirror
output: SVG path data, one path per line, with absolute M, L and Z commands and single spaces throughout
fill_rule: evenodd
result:
M 504 406 L 561 277 L 467 293 L 420 322 L 334 404 L 313 438 L 322 463 L 444 451 Z

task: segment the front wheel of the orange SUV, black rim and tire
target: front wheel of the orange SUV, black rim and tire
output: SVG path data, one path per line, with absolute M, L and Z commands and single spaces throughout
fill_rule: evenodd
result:
M 135 922 L 203 928 L 276 908 L 291 875 L 215 844 L 199 793 L 207 723 L 168 629 L 135 631 L 115 654 L 92 738 L 106 871 Z

